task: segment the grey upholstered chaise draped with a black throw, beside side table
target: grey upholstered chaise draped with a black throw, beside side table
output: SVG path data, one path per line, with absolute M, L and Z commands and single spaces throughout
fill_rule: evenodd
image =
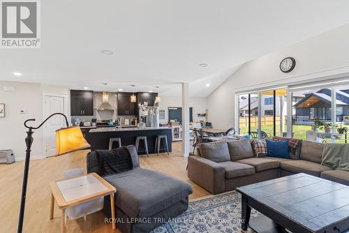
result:
M 128 149 L 133 169 L 109 174 L 103 179 L 117 188 L 114 195 L 117 228 L 123 233 L 149 232 L 186 211 L 188 195 L 193 193 L 193 188 L 189 183 L 172 176 L 139 167 L 135 149 Z M 90 152 L 87 156 L 88 172 L 98 173 L 97 164 L 96 154 Z M 105 197 L 104 211 L 111 218 L 109 196 Z

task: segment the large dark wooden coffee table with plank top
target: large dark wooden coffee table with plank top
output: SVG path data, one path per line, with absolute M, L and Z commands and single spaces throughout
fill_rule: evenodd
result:
M 349 232 L 349 186 L 300 173 L 236 190 L 242 194 L 242 230 Z M 263 216 L 250 221 L 251 208 Z

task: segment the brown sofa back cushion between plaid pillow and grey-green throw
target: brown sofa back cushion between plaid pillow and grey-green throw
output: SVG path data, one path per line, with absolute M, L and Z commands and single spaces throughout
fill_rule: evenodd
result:
M 303 140 L 301 159 L 308 160 L 314 163 L 321 163 L 322 151 L 324 150 L 324 146 L 325 144 L 322 143 Z

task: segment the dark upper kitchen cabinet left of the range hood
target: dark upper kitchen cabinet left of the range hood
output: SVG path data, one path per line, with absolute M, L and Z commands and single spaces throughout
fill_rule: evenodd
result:
M 94 91 L 70 90 L 70 115 L 94 115 Z

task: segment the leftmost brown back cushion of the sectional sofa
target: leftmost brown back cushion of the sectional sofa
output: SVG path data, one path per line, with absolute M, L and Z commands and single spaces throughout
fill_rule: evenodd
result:
M 227 142 L 209 142 L 199 145 L 200 156 L 216 163 L 230 161 Z

